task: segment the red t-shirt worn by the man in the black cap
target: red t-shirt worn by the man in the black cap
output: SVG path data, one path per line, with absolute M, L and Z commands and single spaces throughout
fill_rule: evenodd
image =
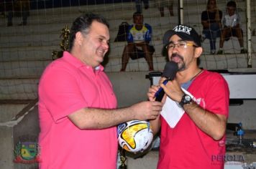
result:
M 228 117 L 229 88 L 220 74 L 204 70 L 193 80 L 188 91 L 204 109 Z M 157 168 L 224 168 L 225 140 L 224 136 L 215 141 L 201 131 L 186 113 L 174 128 L 170 128 L 161 117 Z

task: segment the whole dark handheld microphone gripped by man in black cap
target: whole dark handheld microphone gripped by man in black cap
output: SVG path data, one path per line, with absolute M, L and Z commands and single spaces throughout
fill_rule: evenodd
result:
M 163 84 L 167 84 L 169 80 L 173 80 L 175 78 L 176 73 L 178 72 L 178 64 L 176 62 L 170 61 L 165 64 L 165 69 L 163 69 L 162 77 L 166 77 Z M 165 91 L 162 87 L 160 87 L 157 92 L 155 92 L 155 101 L 161 102 L 163 99 L 163 95 L 165 95 Z

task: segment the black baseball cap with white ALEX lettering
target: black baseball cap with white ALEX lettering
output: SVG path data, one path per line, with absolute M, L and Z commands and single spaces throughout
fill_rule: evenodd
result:
M 191 26 L 186 26 L 182 24 L 178 24 L 173 29 L 168 30 L 163 35 L 163 44 L 164 47 L 168 45 L 170 37 L 173 37 L 173 35 L 178 35 L 181 39 L 185 41 L 193 41 L 196 43 L 198 47 L 201 47 L 201 39 L 196 32 L 195 29 L 193 29 Z

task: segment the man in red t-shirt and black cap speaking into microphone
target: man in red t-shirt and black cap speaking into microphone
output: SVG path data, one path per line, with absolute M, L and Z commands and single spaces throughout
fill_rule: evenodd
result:
M 195 29 L 185 25 L 175 26 L 165 32 L 163 41 L 169 60 L 178 64 L 178 72 L 175 79 L 169 80 L 166 85 L 163 85 L 166 78 L 162 77 L 160 86 L 150 87 L 147 95 L 153 101 L 155 92 L 163 87 L 166 95 L 162 102 L 173 100 L 185 113 L 174 127 L 170 127 L 170 119 L 162 115 L 151 120 L 155 133 L 161 127 L 157 168 L 224 168 L 229 114 L 227 82 L 220 74 L 198 67 L 203 49 Z M 193 98 L 181 87 L 188 90 Z

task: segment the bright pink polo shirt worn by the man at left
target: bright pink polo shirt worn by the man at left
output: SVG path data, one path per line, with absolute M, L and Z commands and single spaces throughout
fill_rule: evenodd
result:
M 103 69 L 68 52 L 45 69 L 39 84 L 41 169 L 116 168 L 116 127 L 80 130 L 67 117 L 83 107 L 116 108 Z

